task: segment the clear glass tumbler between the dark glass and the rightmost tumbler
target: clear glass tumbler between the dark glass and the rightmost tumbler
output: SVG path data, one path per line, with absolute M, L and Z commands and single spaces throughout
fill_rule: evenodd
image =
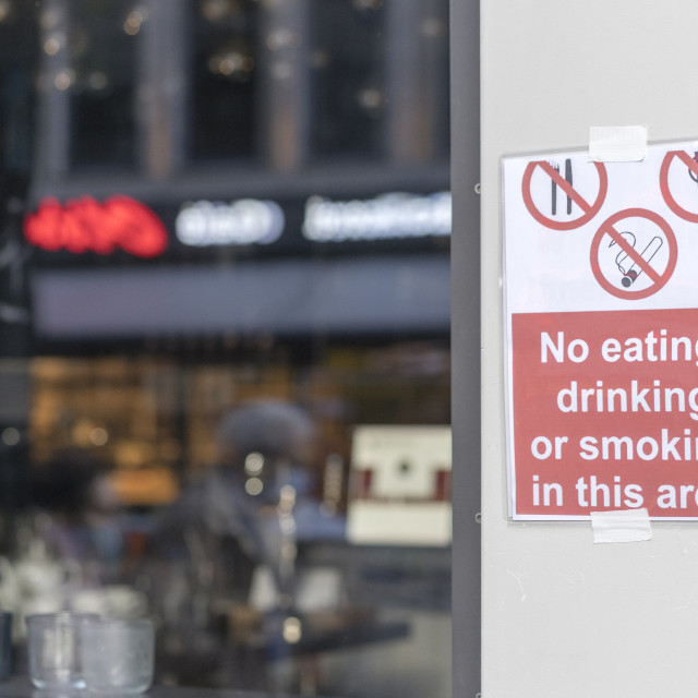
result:
M 95 616 L 39 613 L 26 618 L 29 678 L 36 688 L 84 688 L 81 623 L 88 617 Z

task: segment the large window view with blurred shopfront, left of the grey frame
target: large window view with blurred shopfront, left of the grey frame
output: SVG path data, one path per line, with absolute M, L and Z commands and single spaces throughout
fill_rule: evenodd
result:
M 153 615 L 160 683 L 450 696 L 448 0 L 0 0 L 0 606 Z M 316 443 L 289 588 L 233 598 L 154 531 L 260 400 Z M 72 454 L 106 575 L 50 543 Z

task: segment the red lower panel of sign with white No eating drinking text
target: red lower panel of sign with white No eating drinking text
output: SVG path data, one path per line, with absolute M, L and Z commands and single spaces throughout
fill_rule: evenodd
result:
M 658 518 L 698 518 L 697 356 L 667 349 L 697 327 L 696 309 L 513 314 L 515 516 L 646 506 Z M 588 353 L 573 361 L 574 347 Z

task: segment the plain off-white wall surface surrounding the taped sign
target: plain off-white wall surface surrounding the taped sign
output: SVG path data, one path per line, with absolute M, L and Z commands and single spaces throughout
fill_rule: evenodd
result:
M 585 147 L 590 125 L 696 137 L 697 29 L 695 0 L 481 0 L 484 698 L 696 695 L 698 524 L 594 545 L 587 522 L 507 520 L 500 167 L 505 154 Z M 455 272 L 465 246 L 454 254 Z

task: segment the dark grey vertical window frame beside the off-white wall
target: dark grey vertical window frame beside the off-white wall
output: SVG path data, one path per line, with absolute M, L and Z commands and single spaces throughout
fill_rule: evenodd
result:
M 477 0 L 450 2 L 453 690 L 480 691 L 480 27 Z

